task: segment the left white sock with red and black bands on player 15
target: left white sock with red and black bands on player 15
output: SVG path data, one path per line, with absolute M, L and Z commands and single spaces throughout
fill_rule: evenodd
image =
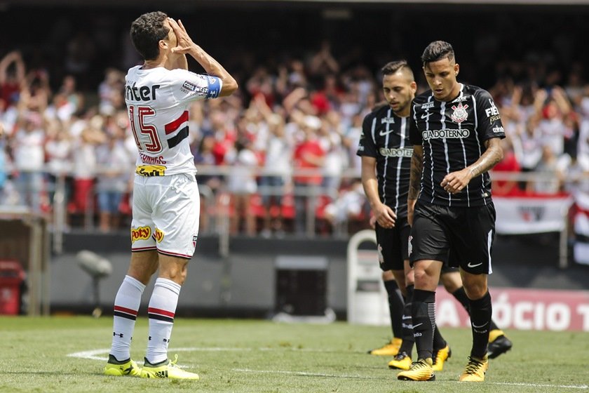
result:
M 141 303 L 141 295 L 145 286 L 133 277 L 125 276 L 119 291 L 114 298 L 114 320 L 111 355 L 116 360 L 126 360 L 131 357 L 131 340 L 137 319 L 137 310 Z

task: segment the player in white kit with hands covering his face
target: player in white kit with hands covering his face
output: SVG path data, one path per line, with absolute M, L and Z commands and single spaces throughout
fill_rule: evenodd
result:
M 133 22 L 131 40 L 144 58 L 129 69 L 125 101 L 137 144 L 130 267 L 114 300 L 107 375 L 198 380 L 168 359 L 180 288 L 198 237 L 199 194 L 188 142 L 191 102 L 230 95 L 237 82 L 194 44 L 180 20 L 162 12 Z M 188 71 L 187 55 L 206 74 Z M 149 339 L 143 368 L 130 358 L 141 295 L 158 271 L 149 307 Z

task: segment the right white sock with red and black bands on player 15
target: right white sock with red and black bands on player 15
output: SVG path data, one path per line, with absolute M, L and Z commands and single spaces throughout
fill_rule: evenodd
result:
M 180 295 L 180 284 L 158 278 L 149 299 L 149 341 L 145 357 L 151 364 L 168 359 L 168 344 L 174 326 L 174 314 Z

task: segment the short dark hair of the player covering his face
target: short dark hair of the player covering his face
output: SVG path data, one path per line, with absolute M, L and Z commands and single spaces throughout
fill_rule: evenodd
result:
M 161 11 L 144 13 L 131 24 L 131 42 L 144 60 L 154 60 L 159 55 L 159 41 L 170 32 L 163 22 L 168 15 Z

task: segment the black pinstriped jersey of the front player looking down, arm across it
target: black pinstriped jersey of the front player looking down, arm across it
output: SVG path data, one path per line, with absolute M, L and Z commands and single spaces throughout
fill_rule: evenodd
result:
M 499 109 L 489 92 L 461 85 L 452 101 L 433 98 L 432 92 L 412 102 L 410 139 L 424 147 L 424 171 L 419 199 L 443 206 L 482 206 L 491 201 L 489 173 L 470 180 L 458 194 L 450 194 L 440 183 L 447 173 L 473 164 L 485 152 L 485 140 L 505 138 Z

